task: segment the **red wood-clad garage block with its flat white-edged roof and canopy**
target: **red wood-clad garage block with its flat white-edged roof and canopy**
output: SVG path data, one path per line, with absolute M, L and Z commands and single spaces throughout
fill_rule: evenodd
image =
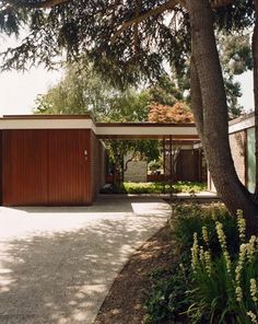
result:
M 105 182 L 103 139 L 199 142 L 194 124 L 95 124 L 90 115 L 0 118 L 2 206 L 92 205 Z

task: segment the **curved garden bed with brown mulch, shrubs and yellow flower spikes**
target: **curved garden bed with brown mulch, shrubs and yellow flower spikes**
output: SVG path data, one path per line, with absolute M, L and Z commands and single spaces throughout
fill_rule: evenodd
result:
M 222 204 L 176 206 L 115 280 L 94 324 L 251 324 L 258 239 Z

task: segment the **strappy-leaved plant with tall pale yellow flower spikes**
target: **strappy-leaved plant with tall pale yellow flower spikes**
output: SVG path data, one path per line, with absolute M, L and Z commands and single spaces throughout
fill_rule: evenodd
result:
M 214 257 L 210 250 L 207 228 L 202 228 L 200 245 L 194 234 L 191 267 L 194 288 L 192 304 L 188 309 L 191 323 L 258 323 L 258 241 L 251 236 L 245 242 L 245 220 L 238 213 L 237 257 L 232 259 L 223 224 L 215 222 L 221 254 Z

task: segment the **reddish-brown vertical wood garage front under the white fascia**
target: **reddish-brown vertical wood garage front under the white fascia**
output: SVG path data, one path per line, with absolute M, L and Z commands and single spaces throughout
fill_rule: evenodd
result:
M 90 132 L 3 130 L 2 205 L 91 205 Z

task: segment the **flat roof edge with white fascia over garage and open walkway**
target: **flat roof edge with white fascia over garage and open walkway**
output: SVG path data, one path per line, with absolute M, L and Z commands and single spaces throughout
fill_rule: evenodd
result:
M 99 139 L 198 141 L 195 124 L 97 123 L 91 115 L 5 115 L 0 129 L 91 129 Z

